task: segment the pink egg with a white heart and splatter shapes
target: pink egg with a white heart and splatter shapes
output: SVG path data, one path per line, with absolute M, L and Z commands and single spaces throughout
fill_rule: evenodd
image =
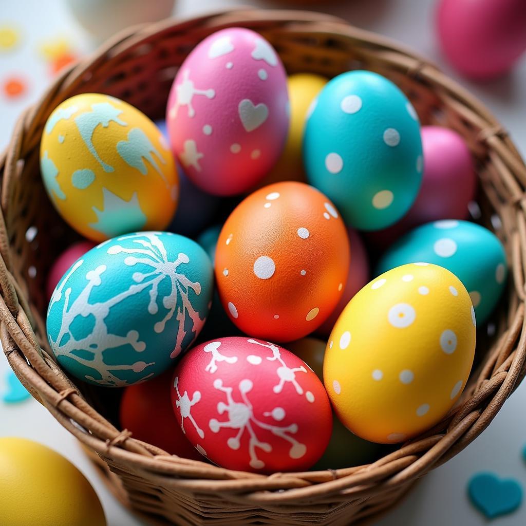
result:
M 171 147 L 197 186 L 222 196 L 249 190 L 285 144 L 285 68 L 261 35 L 222 29 L 198 44 L 179 68 L 166 122 Z

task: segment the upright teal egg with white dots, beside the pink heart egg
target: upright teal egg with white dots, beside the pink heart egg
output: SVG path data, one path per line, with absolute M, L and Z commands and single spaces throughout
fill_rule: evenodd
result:
M 387 78 L 342 73 L 309 109 L 303 157 L 309 183 L 336 204 L 347 225 L 386 228 L 409 210 L 420 189 L 418 115 Z

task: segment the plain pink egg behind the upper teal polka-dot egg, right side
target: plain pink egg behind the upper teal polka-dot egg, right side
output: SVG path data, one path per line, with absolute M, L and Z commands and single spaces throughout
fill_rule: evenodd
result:
M 417 199 L 395 225 L 367 236 L 374 245 L 386 247 L 430 221 L 468 217 L 477 175 L 466 142 L 456 131 L 441 126 L 422 126 L 421 133 L 424 171 Z

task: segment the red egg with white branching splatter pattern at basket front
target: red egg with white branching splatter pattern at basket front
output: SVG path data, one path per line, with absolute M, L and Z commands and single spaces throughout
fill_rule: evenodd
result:
M 306 470 L 332 430 L 316 374 L 264 340 L 228 337 L 194 347 L 175 369 L 171 401 L 190 442 L 227 469 Z

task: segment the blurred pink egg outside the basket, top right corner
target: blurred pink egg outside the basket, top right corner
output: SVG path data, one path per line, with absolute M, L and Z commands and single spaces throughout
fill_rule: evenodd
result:
M 437 26 L 444 54 L 468 77 L 501 75 L 526 50 L 524 0 L 440 0 Z

